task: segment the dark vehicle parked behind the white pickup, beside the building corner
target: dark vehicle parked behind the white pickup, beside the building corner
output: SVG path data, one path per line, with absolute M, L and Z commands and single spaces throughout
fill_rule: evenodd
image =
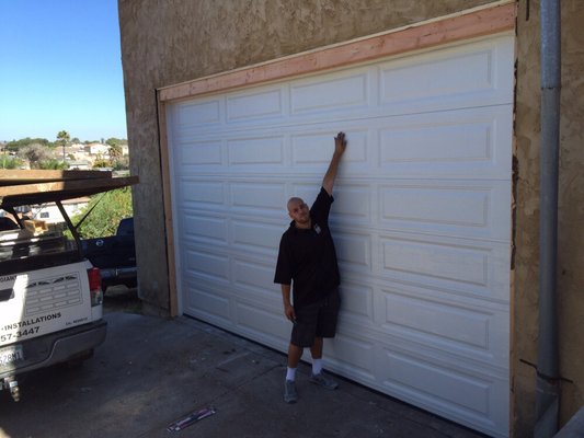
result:
M 102 275 L 102 290 L 110 286 L 136 287 L 136 247 L 134 245 L 134 218 L 119 221 L 115 235 L 81 240 L 83 255 Z

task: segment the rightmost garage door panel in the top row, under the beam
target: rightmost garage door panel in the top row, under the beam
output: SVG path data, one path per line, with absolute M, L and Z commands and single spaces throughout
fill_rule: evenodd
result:
M 391 60 L 379 66 L 380 104 L 412 113 L 512 103 L 509 59 L 513 46 L 500 38 Z

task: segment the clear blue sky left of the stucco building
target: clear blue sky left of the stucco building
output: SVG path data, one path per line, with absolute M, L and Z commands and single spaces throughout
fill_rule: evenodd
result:
M 117 0 L 0 0 L 0 141 L 127 138 Z

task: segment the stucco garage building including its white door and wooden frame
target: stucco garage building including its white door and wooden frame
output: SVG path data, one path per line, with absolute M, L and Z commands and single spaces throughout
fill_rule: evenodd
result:
M 584 404 L 584 3 L 561 13 L 564 424 Z M 345 130 L 327 366 L 488 435 L 533 436 L 539 14 L 537 0 L 119 0 L 145 309 L 284 350 L 286 200 L 313 199 Z

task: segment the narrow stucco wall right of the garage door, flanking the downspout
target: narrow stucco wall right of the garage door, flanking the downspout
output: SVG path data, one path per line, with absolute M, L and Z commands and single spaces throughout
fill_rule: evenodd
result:
M 539 289 L 539 1 L 517 14 L 514 379 L 518 425 L 534 422 Z M 584 404 L 584 2 L 562 0 L 562 97 L 558 227 L 561 423 Z M 580 339 L 580 341 L 579 341 Z M 530 434 L 529 434 L 530 436 Z

